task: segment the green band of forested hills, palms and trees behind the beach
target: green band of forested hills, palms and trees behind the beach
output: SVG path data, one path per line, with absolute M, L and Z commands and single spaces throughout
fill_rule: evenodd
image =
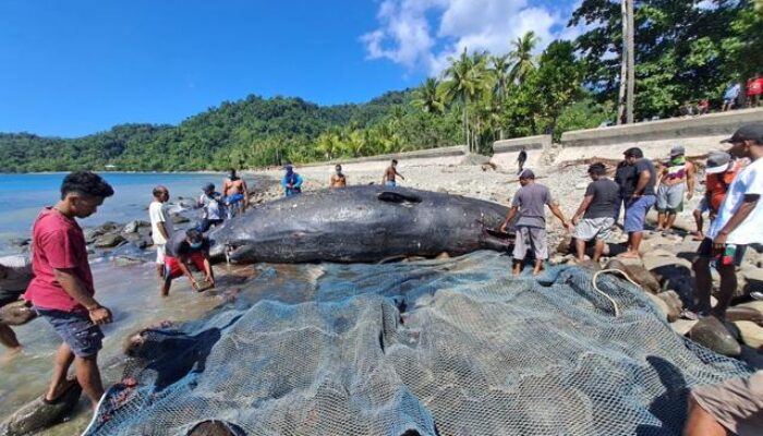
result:
M 637 119 L 671 117 L 703 98 L 718 107 L 730 81 L 758 74 L 763 7 L 753 3 L 637 0 Z M 544 132 L 558 138 L 615 121 L 620 20 L 619 1 L 583 0 L 570 25 L 586 31 L 574 41 L 534 56 L 530 32 L 507 41 L 507 56 L 464 50 L 440 77 L 363 105 L 250 96 L 177 126 L 125 124 L 73 140 L 0 134 L 0 171 L 247 168 L 455 144 L 489 153 L 496 140 Z

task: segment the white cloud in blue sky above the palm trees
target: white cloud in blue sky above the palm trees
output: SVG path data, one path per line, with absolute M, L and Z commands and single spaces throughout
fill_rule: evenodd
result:
M 504 55 L 512 40 L 533 31 L 541 50 L 584 29 L 567 28 L 569 17 L 526 0 L 384 0 L 377 19 L 379 27 L 361 37 L 368 58 L 434 75 L 464 48 Z

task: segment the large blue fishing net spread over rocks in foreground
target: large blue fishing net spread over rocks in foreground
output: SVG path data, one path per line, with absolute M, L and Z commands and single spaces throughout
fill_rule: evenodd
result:
M 88 434 L 219 420 L 246 435 L 675 435 L 691 387 L 749 374 L 614 276 L 597 280 L 619 317 L 590 271 L 513 278 L 508 264 L 266 270 L 247 286 L 259 296 L 146 331 Z

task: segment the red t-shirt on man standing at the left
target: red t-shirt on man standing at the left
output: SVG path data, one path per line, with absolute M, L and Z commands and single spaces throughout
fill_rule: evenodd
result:
M 32 268 L 35 278 L 26 288 L 24 300 L 35 306 L 64 312 L 84 311 L 56 280 L 53 269 L 72 269 L 93 295 L 93 274 L 87 262 L 87 246 L 82 228 L 73 218 L 45 208 L 32 229 Z

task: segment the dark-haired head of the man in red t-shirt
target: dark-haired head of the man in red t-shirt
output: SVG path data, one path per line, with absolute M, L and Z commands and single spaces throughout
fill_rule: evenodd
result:
M 98 210 L 104 199 L 114 194 L 110 184 L 89 171 L 75 171 L 63 178 L 59 209 L 64 214 L 87 218 Z

